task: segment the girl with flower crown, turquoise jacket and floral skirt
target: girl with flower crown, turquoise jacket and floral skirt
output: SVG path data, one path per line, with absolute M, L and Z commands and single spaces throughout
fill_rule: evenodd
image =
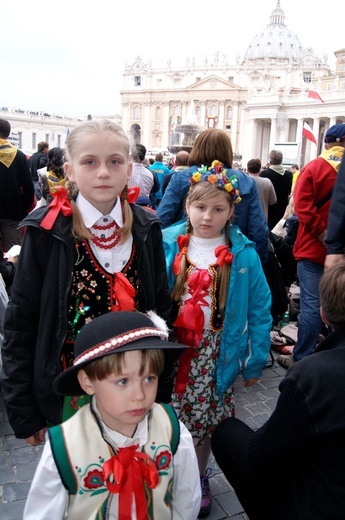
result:
M 199 517 L 212 507 L 206 469 L 211 434 L 235 414 L 238 374 L 245 386 L 256 383 L 270 349 L 270 290 L 253 242 L 230 224 L 240 200 L 236 177 L 214 161 L 190 179 L 187 221 L 163 230 L 175 332 L 191 347 L 178 361 L 172 401 L 194 439 Z

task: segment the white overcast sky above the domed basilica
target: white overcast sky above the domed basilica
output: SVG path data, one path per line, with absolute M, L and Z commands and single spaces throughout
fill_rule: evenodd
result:
M 83 118 L 120 113 L 125 63 L 136 56 L 151 59 L 153 68 L 217 51 L 243 57 L 277 0 L 1 3 L 0 107 Z M 345 47 L 345 37 L 329 7 L 303 0 L 280 5 L 302 46 L 328 54 L 334 69 L 333 53 Z

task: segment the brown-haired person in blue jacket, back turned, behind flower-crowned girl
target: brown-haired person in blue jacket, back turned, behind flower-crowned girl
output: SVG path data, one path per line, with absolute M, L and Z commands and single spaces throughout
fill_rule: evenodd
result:
M 224 130 L 209 128 L 198 135 L 190 152 L 190 168 L 173 175 L 157 209 L 163 228 L 185 218 L 185 197 L 189 179 L 202 165 L 210 165 L 214 158 L 226 168 L 232 166 L 233 151 L 230 137 Z M 255 181 L 246 173 L 231 170 L 236 175 L 241 203 L 236 204 L 233 223 L 255 244 L 262 264 L 265 264 L 268 250 L 268 227 L 262 211 Z

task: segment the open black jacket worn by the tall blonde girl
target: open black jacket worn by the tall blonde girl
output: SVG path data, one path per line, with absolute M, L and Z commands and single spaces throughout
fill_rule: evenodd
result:
M 159 219 L 132 205 L 133 242 L 143 288 L 141 310 L 170 316 L 170 295 Z M 10 424 L 27 438 L 47 422 L 61 422 L 61 402 L 52 383 L 61 372 L 67 332 L 67 299 L 76 259 L 71 217 L 59 215 L 51 232 L 40 228 L 48 207 L 23 221 L 27 226 L 5 316 L 1 391 Z

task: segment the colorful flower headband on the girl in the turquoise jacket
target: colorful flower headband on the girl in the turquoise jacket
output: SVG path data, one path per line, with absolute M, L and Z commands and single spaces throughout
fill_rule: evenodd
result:
M 227 171 L 228 170 L 224 168 L 223 163 L 217 160 L 213 161 L 210 168 L 207 168 L 207 166 L 198 168 L 189 179 L 189 185 L 192 187 L 200 181 L 207 181 L 210 184 L 215 184 L 219 188 L 227 191 L 231 195 L 234 203 L 237 204 L 241 201 L 240 192 L 238 190 L 238 180 L 236 175 L 232 175 L 228 178 L 226 176 Z

